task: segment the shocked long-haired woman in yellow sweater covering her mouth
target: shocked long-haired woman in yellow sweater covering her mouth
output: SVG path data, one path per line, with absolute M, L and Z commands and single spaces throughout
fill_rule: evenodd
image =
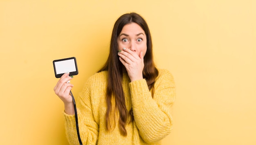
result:
M 68 75 L 54 91 L 64 102 L 67 139 L 79 145 Z M 83 145 L 160 145 L 173 127 L 168 110 L 174 98 L 171 73 L 153 62 L 145 20 L 137 13 L 121 15 L 106 64 L 88 79 L 76 101 Z

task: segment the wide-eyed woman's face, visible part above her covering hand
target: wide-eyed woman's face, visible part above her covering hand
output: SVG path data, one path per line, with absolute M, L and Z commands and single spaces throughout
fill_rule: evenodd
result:
M 144 30 L 137 23 L 124 25 L 117 39 L 118 50 L 128 48 L 139 55 L 142 51 L 145 56 L 147 51 L 147 38 Z

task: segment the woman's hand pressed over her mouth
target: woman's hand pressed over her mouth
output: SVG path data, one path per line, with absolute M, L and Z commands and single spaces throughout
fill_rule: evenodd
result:
M 131 82 L 143 79 L 144 56 L 142 51 L 138 55 L 130 49 L 123 48 L 123 51 L 119 51 L 118 55 L 121 63 L 124 64 L 127 70 Z

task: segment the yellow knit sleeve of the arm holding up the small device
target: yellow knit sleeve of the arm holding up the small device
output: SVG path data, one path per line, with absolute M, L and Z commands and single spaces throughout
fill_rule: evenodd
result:
M 90 100 L 90 85 L 85 84 L 83 91 L 80 93 L 76 101 L 79 133 L 83 145 L 96 145 L 99 134 L 99 125 L 94 121 L 92 112 L 92 104 Z M 74 115 L 68 115 L 63 112 L 65 118 L 65 130 L 67 140 L 70 145 L 79 145 L 76 132 L 76 121 Z

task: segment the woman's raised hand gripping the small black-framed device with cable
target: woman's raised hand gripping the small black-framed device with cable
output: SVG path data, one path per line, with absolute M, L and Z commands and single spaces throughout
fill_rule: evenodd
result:
M 70 115 L 74 114 L 73 100 L 70 95 L 70 90 L 72 89 L 73 85 L 71 83 L 67 83 L 67 81 L 70 81 L 71 79 L 72 77 L 69 77 L 69 73 L 65 73 L 61 76 L 56 86 L 54 87 L 55 94 L 64 103 L 65 112 Z

